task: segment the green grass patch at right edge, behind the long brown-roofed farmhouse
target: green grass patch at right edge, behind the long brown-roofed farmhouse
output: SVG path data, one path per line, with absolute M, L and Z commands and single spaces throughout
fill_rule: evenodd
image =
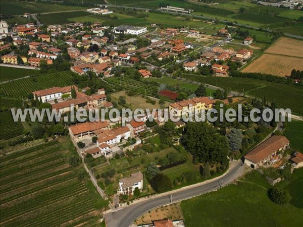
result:
M 283 135 L 290 141 L 293 149 L 303 152 L 303 122 L 295 120 L 287 122 Z

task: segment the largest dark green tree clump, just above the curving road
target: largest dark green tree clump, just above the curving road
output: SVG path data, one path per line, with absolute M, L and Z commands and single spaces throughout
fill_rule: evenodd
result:
M 226 137 L 206 122 L 188 123 L 181 142 L 194 159 L 203 163 L 224 162 L 229 151 Z

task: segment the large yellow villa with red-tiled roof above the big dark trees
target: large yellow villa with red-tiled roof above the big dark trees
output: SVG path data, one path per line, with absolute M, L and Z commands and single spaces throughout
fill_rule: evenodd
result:
M 192 114 L 194 111 L 209 110 L 213 108 L 216 101 L 217 99 L 210 99 L 209 97 L 195 97 L 170 103 L 169 111 L 174 110 L 176 112 L 175 117 L 181 117 L 183 111 Z

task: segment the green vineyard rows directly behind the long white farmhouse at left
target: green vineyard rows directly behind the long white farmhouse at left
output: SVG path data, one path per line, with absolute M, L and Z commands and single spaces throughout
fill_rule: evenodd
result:
M 71 71 L 65 71 L 12 81 L 1 85 L 0 94 L 2 97 L 26 98 L 33 91 L 72 85 L 73 75 Z

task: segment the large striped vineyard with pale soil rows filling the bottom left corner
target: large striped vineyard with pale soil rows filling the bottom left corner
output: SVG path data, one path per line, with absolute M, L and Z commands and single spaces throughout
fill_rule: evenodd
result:
M 89 226 L 98 222 L 96 209 L 106 203 L 89 181 L 79 180 L 81 166 L 72 168 L 68 156 L 77 155 L 62 138 L 1 157 L 2 226 Z

